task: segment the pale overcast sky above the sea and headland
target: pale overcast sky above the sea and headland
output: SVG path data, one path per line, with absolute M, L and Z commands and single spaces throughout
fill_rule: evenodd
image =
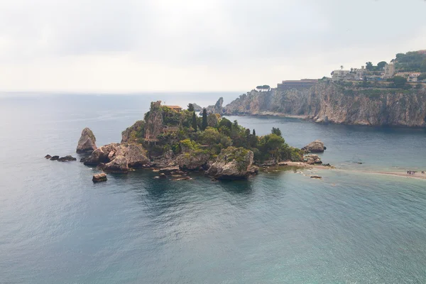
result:
M 424 0 L 0 0 L 0 91 L 246 92 L 426 49 Z

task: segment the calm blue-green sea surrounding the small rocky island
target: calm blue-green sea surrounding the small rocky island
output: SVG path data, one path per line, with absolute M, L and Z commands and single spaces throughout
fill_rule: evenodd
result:
M 320 139 L 335 170 L 241 181 L 111 174 L 73 155 L 102 146 L 150 102 L 203 107 L 239 93 L 38 94 L 0 98 L 0 283 L 426 283 L 426 130 L 229 116 L 258 135 Z M 311 179 L 320 175 L 322 180 Z

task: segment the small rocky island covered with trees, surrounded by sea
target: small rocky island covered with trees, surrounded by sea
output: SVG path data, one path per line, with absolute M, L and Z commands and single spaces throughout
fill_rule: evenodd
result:
M 212 111 L 221 110 L 222 100 Z M 304 158 L 304 153 L 285 143 L 280 129 L 266 136 L 229 121 L 220 114 L 203 111 L 197 116 L 188 109 L 152 102 L 143 120 L 121 133 L 121 143 L 96 148 L 90 129 L 82 131 L 77 146 L 84 165 L 96 166 L 106 173 L 128 173 L 138 168 L 158 172 L 158 178 L 171 175 L 175 180 L 189 179 L 187 172 L 203 171 L 214 179 L 241 179 L 258 173 L 259 166 L 283 165 L 282 161 L 322 163 L 319 158 Z M 323 145 L 322 145 L 323 146 Z M 94 181 L 104 180 L 104 175 Z

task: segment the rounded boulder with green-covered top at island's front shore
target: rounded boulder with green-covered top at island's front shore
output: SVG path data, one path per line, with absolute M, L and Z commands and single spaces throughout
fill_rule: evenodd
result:
M 212 178 L 234 180 L 246 178 L 256 173 L 253 165 L 253 152 L 244 148 L 228 147 L 222 149 L 216 161 L 205 172 Z

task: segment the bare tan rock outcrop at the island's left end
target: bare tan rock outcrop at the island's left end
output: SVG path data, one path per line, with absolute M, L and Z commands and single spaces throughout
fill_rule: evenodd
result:
M 117 157 L 121 160 L 108 166 Z M 99 165 L 105 164 L 105 168 L 115 167 L 117 163 L 123 163 L 123 158 L 126 160 L 126 167 L 141 168 L 150 162 L 146 155 L 145 149 L 140 144 L 136 143 L 111 143 L 97 148 L 89 157 L 84 160 L 84 165 Z M 124 167 L 124 168 L 126 168 Z

